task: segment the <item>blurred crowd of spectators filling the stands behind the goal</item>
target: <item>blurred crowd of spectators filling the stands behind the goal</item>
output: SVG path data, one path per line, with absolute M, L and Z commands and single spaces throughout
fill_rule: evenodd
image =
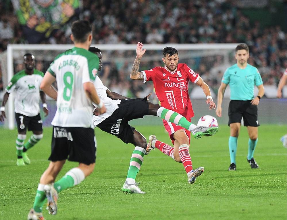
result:
M 27 43 L 9 2 L 0 3 L 0 51 L 5 51 L 8 43 Z M 287 34 L 280 25 L 265 26 L 260 21 L 251 22 L 237 2 L 84 0 L 80 17 L 93 24 L 94 44 L 136 44 L 138 41 L 144 44 L 246 43 L 250 49 L 249 63 L 258 68 L 264 85 L 277 86 L 287 67 Z M 71 21 L 76 17 L 78 15 Z M 41 43 L 72 43 L 71 32 L 66 26 L 54 31 Z M 135 56 L 135 52 L 120 54 L 122 57 L 132 55 Z M 154 54 L 151 52 L 150 55 Z M 155 55 L 161 56 L 160 53 Z M 37 60 L 37 68 L 45 72 L 49 63 Z M 235 60 L 231 60 L 231 63 L 235 63 Z M 142 97 L 153 89 L 152 85 L 143 87 L 141 82 L 130 82 L 132 63 L 119 64 L 106 59 L 103 64 L 100 75 L 112 91 L 129 97 Z M 216 93 L 226 68 L 222 66 L 222 57 L 203 58 L 188 64 Z M 141 68 L 161 65 L 160 60 L 142 62 Z M 21 68 L 21 64 L 15 65 L 16 71 Z M 1 84 L 0 90 L 3 89 Z

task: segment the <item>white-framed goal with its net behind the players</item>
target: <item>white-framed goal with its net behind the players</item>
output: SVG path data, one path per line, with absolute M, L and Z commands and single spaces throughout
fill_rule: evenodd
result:
M 92 45 L 102 51 L 103 69 L 99 72 L 99 77 L 102 79 L 111 91 L 115 91 L 122 95 L 132 98 L 144 97 L 149 92 L 153 92 L 153 84 L 147 82 L 145 85 L 141 81 L 130 80 L 130 71 L 136 56 L 136 45 L 131 44 L 103 44 Z M 212 90 L 212 95 L 216 99 L 217 89 L 220 85 L 222 75 L 228 66 L 235 63 L 234 49 L 237 44 L 145 44 L 147 49 L 145 55 L 140 62 L 140 70 L 151 69 L 155 66 L 163 66 L 162 49 L 171 46 L 178 50 L 180 63 L 186 63 L 194 71 L 207 82 Z M 36 59 L 36 69 L 45 73 L 55 56 L 65 50 L 72 48 L 73 45 L 47 45 L 47 44 L 10 44 L 7 51 L 0 54 L 0 64 L 3 80 L 3 92 L 0 101 L 5 93 L 5 87 L 12 76 L 23 69 L 23 56 L 26 53 L 32 53 Z M 208 110 L 203 99 L 205 95 L 200 87 L 189 83 L 190 98 L 195 107 L 195 118 L 197 121 L 202 115 L 212 114 L 215 116 L 215 111 L 212 113 Z M 228 92 L 225 94 L 228 96 Z M 150 101 L 158 103 L 156 96 L 153 94 Z M 53 116 L 55 115 L 56 103 L 47 97 L 49 115 L 41 117 L 44 126 L 50 126 Z M 226 104 L 225 104 L 226 106 Z M 13 129 L 15 126 L 14 119 L 14 101 L 13 93 L 10 94 L 6 104 L 7 120 L 1 126 Z M 220 122 L 226 122 L 222 119 Z M 140 123 L 151 125 L 160 123 L 154 117 L 142 120 Z

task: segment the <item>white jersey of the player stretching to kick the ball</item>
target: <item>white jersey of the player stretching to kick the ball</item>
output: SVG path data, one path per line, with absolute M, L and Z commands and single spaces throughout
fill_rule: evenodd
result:
M 121 103 L 121 100 L 111 99 L 107 96 L 106 91 L 108 88 L 103 85 L 103 82 L 99 77 L 96 78 L 94 85 L 99 98 L 105 104 L 107 109 L 107 111 L 101 115 L 93 115 L 93 125 L 97 126 L 99 123 L 111 116 L 116 109 L 118 109 L 118 104 Z

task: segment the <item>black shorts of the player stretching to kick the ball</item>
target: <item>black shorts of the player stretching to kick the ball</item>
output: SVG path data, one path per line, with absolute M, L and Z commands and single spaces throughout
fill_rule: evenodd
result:
M 149 103 L 145 99 L 123 99 L 118 104 L 118 109 L 97 127 L 128 144 L 133 142 L 135 129 L 128 122 L 132 119 L 143 118 L 148 113 Z

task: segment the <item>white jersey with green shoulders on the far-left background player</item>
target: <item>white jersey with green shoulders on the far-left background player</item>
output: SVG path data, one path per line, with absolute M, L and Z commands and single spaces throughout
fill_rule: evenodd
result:
M 6 87 L 6 92 L 15 91 L 15 112 L 26 116 L 35 116 L 40 112 L 40 84 L 44 73 L 34 69 L 29 75 L 25 70 L 16 73 Z

